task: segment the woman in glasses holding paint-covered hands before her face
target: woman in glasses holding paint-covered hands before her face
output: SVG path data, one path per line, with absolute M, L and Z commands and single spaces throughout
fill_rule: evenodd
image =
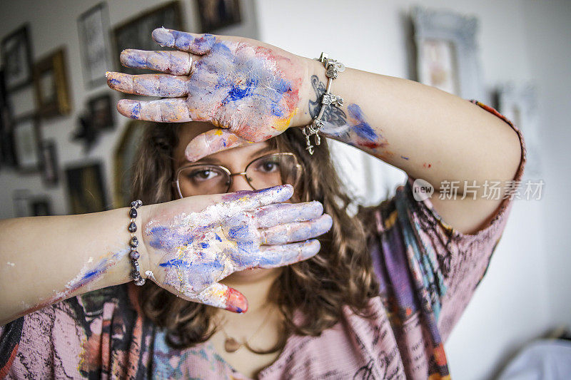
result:
M 129 282 L 128 209 L 2 222 L 0 374 L 450 377 L 443 344 L 507 222 L 520 131 L 477 101 L 334 62 L 332 79 L 251 39 L 153 38 L 177 50 L 121 61 L 163 73 L 108 73 L 111 88 L 163 97 L 118 103 L 160 122 L 133 183 L 147 282 Z M 303 129 L 315 119 L 407 183 L 350 217 L 327 145 Z

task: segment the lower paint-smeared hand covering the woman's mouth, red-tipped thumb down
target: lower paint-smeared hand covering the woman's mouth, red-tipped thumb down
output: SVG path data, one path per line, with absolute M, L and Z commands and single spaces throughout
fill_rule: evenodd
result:
M 331 227 L 320 202 L 281 203 L 292 195 L 281 185 L 153 206 L 143 220 L 146 277 L 190 301 L 246 312 L 243 294 L 219 281 L 313 257 L 320 249 L 313 238 Z

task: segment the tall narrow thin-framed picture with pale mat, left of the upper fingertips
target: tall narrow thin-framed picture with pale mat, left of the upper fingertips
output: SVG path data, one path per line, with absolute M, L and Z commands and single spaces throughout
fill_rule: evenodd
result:
M 105 72 L 111 69 L 108 49 L 109 11 L 103 1 L 77 19 L 79 48 L 86 88 L 106 83 Z

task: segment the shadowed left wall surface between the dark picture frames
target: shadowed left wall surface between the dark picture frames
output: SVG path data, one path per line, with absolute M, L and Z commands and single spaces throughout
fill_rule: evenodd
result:
M 9 34 L 14 29 L 29 22 L 31 26 L 31 45 L 33 58 L 38 59 L 46 53 L 54 51 L 59 46 L 66 46 L 68 83 L 71 89 L 71 115 L 41 121 L 41 133 L 44 138 L 56 140 L 59 154 L 60 169 L 66 165 L 83 162 L 85 160 L 100 160 L 105 172 L 107 200 L 109 205 L 113 201 L 111 186 L 113 179 L 112 152 L 115 148 L 127 119 L 116 116 L 117 127 L 111 133 L 102 133 L 98 143 L 89 155 L 84 155 L 83 145 L 71 142 L 71 135 L 77 128 L 76 119 L 86 108 L 86 101 L 92 96 L 107 91 L 113 93 L 106 85 L 88 90 L 84 86 L 84 77 L 81 71 L 81 55 L 79 51 L 79 36 L 77 32 L 77 19 L 84 11 L 98 4 L 101 0 L 8 0 L 2 1 L 0 13 L 0 36 Z M 131 19 L 138 13 L 152 9 L 167 1 L 158 0 L 108 0 L 109 23 L 111 27 Z M 198 12 L 196 1 L 181 1 L 183 10 L 183 26 L 186 31 L 198 32 Z M 253 1 L 242 1 L 241 16 L 243 24 L 223 29 L 224 34 L 236 34 L 255 38 L 258 34 Z M 151 31 L 149 31 L 151 33 Z M 158 48 L 158 45 L 157 45 Z M 116 56 L 113 56 L 113 64 Z M 109 68 L 114 71 L 117 68 Z M 29 86 L 22 91 L 11 94 L 11 106 L 14 115 L 25 115 L 34 110 L 34 88 Z M 0 218 L 14 217 L 13 192 L 16 189 L 29 189 L 31 195 L 47 195 L 52 202 L 52 211 L 63 215 L 70 212 L 65 189 L 65 178 L 60 173 L 60 183 L 56 188 L 46 188 L 42 185 L 39 174 L 25 174 L 0 169 Z

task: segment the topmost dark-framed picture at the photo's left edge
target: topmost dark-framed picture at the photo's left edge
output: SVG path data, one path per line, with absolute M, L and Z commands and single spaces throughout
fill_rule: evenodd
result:
M 0 42 L 6 91 L 14 91 L 31 83 L 31 43 L 29 25 L 25 24 Z

